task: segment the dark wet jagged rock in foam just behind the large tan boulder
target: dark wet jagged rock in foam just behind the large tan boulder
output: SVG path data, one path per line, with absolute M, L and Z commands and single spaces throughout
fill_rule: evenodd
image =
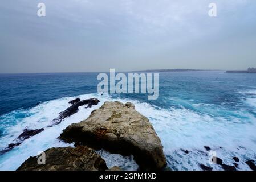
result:
M 79 98 L 79 100 L 80 100 L 80 98 Z M 58 125 L 59 123 L 62 122 L 63 119 L 66 119 L 67 117 L 70 117 L 71 115 L 77 113 L 79 106 L 87 105 L 86 108 L 91 108 L 92 105 L 97 105 L 100 101 L 97 100 L 97 98 L 90 98 L 90 99 L 86 99 L 86 100 L 82 100 L 82 101 L 78 101 L 78 99 L 76 99 L 76 101 L 72 100 L 70 102 L 72 102 L 74 104 L 72 106 L 68 107 L 63 112 L 59 113 L 59 117 L 54 119 L 53 124 L 49 125 L 48 127 Z

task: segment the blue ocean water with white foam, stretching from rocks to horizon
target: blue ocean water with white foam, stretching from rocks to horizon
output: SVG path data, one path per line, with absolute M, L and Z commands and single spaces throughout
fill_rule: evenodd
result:
M 29 156 L 50 147 L 72 146 L 60 142 L 62 130 L 86 119 L 105 101 L 130 101 L 149 118 L 159 135 L 172 170 L 201 170 L 199 164 L 222 170 L 209 162 L 209 146 L 225 164 L 240 159 L 238 170 L 250 170 L 246 160 L 256 160 L 256 74 L 211 72 L 160 72 L 159 98 L 147 94 L 98 94 L 98 73 L 44 73 L 0 75 L 0 150 L 23 129 L 46 127 L 69 107 L 68 101 L 96 97 L 100 103 L 64 119 L 0 155 L 0 170 L 15 170 Z M 188 150 L 186 154 L 184 150 Z M 137 169 L 133 156 L 97 151 L 107 166 Z

